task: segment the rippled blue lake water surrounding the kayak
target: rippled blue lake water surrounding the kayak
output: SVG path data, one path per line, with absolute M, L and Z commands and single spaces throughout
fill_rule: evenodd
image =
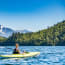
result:
M 14 46 L 0 47 L 1 54 L 12 54 Z M 65 65 L 65 46 L 20 46 L 21 51 L 40 52 L 30 58 L 0 59 L 0 65 Z

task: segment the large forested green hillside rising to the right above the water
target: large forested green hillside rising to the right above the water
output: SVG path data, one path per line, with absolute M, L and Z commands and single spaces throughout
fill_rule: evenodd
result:
M 32 33 L 13 33 L 5 42 L 19 43 L 28 46 L 64 46 L 65 45 L 65 21 L 55 24 L 47 29 Z

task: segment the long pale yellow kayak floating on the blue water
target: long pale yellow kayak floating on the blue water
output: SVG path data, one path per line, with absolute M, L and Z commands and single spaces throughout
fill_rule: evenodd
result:
M 33 57 L 39 54 L 40 52 L 29 52 L 25 54 L 0 55 L 0 57 L 2 58 L 25 58 L 25 57 Z

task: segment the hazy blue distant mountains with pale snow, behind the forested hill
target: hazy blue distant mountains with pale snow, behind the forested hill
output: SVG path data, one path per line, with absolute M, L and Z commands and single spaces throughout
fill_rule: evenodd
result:
M 13 30 L 11 28 L 7 28 L 7 27 L 3 27 L 2 25 L 0 25 L 0 36 L 2 37 L 9 37 L 12 35 L 12 33 L 17 33 L 17 32 L 20 32 L 20 33 L 28 33 L 28 32 L 31 32 L 31 31 L 28 31 L 26 29 L 24 30 Z

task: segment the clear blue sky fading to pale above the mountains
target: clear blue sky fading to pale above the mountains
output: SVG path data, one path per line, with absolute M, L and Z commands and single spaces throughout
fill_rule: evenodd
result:
M 65 20 L 65 0 L 0 0 L 0 24 L 39 31 Z

